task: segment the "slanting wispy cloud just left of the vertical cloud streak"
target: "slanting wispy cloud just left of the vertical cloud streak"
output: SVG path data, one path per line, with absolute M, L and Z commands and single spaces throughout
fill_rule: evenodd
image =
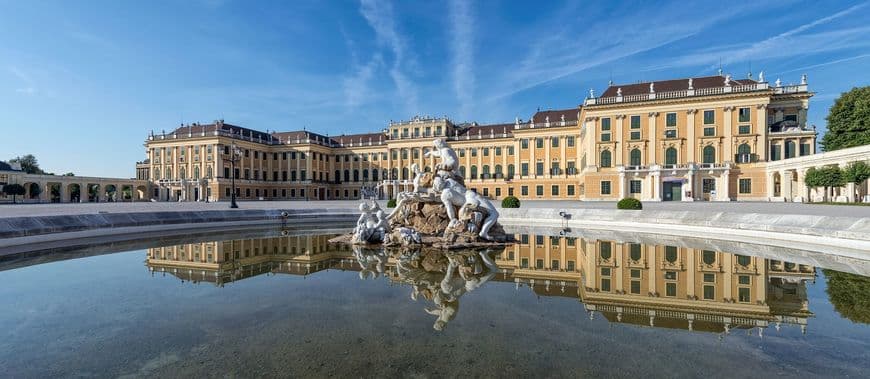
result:
M 393 6 L 387 1 L 362 0 L 360 13 L 375 31 L 379 43 L 387 45 L 393 53 L 393 64 L 389 70 L 390 78 L 396 85 L 400 99 L 404 102 L 409 114 L 419 113 L 417 85 L 405 72 L 407 65 L 413 64 L 413 58 L 407 51 L 407 42 L 396 28 L 396 15 Z

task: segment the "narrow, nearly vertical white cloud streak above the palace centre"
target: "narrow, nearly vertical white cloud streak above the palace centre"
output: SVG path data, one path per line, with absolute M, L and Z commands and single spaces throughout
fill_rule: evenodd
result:
M 471 117 L 474 111 L 474 16 L 471 4 L 452 0 L 449 7 L 453 91 L 459 101 L 460 119 Z

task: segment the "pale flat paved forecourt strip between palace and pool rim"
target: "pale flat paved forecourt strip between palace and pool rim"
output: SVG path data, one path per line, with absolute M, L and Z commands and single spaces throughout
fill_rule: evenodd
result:
M 385 207 L 386 201 L 381 201 Z M 350 209 L 359 205 L 358 200 L 327 200 L 327 201 L 242 201 L 239 209 L 312 209 L 336 208 Z M 496 202 L 496 206 L 498 206 Z M 586 209 L 616 209 L 613 202 L 580 202 L 580 201 L 545 201 L 527 200 L 523 208 L 586 208 Z M 216 203 L 85 203 L 85 204 L 4 204 L 0 205 L 0 218 L 27 216 L 56 216 L 94 213 L 127 213 L 127 212 L 172 212 L 172 211 L 202 211 L 229 209 L 229 202 Z M 644 203 L 644 209 L 656 211 L 697 211 L 697 212 L 735 212 L 761 214 L 795 214 L 834 217 L 870 217 L 870 207 L 846 205 L 812 205 L 798 203 L 768 203 L 768 202 L 660 202 Z

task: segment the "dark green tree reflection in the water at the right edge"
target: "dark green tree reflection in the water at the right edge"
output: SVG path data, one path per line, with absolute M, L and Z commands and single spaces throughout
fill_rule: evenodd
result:
M 870 324 L 870 278 L 834 270 L 822 270 L 828 281 L 828 300 L 840 316 Z

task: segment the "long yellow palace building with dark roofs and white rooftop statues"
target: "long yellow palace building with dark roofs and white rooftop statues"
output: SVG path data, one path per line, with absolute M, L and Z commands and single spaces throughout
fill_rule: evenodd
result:
M 467 186 L 496 200 L 775 200 L 767 162 L 816 152 L 811 96 L 806 77 L 782 85 L 717 75 L 611 84 L 577 108 L 504 124 L 415 117 L 332 137 L 190 124 L 148 137 L 137 179 L 159 201 L 227 200 L 232 176 L 241 200 L 395 197 L 411 188 L 415 166 L 434 168 L 426 153 L 442 138 Z

